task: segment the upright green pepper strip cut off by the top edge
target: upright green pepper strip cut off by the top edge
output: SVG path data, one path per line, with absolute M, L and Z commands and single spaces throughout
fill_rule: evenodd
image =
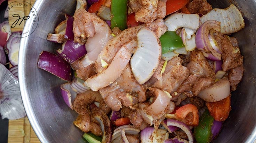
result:
M 111 29 L 118 27 L 120 30 L 127 28 L 127 2 L 128 0 L 111 1 Z

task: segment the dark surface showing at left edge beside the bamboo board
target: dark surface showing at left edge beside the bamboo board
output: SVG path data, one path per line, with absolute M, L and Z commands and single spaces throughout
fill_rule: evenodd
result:
M 1 5 L 0 5 L 0 17 L 1 20 L 3 21 L 3 16 L 4 16 L 4 12 L 5 9 L 7 7 L 7 0 L 4 1 Z M 0 25 L 2 26 L 2 25 Z M 7 143 L 8 140 L 8 119 L 2 119 L 1 115 L 0 115 L 0 143 Z

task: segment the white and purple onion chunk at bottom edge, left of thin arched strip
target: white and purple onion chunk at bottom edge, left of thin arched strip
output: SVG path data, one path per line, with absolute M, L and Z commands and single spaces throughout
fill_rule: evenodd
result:
M 163 143 L 166 130 L 146 127 L 140 132 L 141 143 Z

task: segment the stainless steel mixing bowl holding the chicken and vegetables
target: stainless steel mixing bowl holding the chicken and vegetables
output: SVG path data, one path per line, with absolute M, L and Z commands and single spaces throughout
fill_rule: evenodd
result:
M 242 11 L 246 27 L 234 34 L 244 55 L 245 75 L 232 93 L 232 111 L 215 143 L 252 143 L 256 138 L 256 1 L 208 0 L 213 7 L 234 3 Z M 55 52 L 61 45 L 48 42 L 48 33 L 74 13 L 75 0 L 37 0 L 34 7 L 39 23 L 36 30 L 22 38 L 19 54 L 19 80 L 23 104 L 30 123 L 42 143 L 83 143 L 82 132 L 73 125 L 77 114 L 65 105 L 60 84 L 63 80 L 37 68 L 42 50 Z M 29 24 L 25 29 L 31 31 Z

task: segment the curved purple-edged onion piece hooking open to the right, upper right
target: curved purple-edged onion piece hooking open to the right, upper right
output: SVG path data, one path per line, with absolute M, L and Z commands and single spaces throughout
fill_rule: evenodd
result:
M 211 29 L 220 32 L 220 22 L 216 20 L 208 20 L 199 27 L 195 37 L 196 48 L 203 51 L 204 56 L 209 60 L 220 61 L 221 54 L 212 47 L 212 43 L 209 39 Z

